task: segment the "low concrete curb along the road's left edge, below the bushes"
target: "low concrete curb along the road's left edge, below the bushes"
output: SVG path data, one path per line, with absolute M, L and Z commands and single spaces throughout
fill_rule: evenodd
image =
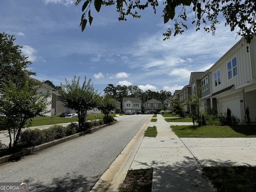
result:
M 59 143 L 71 140 L 71 139 L 74 139 L 76 137 L 80 137 L 80 136 L 82 136 L 82 135 L 84 135 L 86 133 L 94 132 L 94 131 L 96 131 L 96 130 L 98 130 L 100 128 L 106 127 L 108 125 L 112 125 L 112 124 L 114 124 L 116 122 L 118 122 L 118 121 L 114 121 L 114 122 L 111 122 L 111 123 L 108 123 L 108 124 L 104 124 L 104 125 L 101 125 L 101 126 L 98 126 L 98 127 L 94 127 L 94 128 L 92 128 L 90 130 L 87 130 L 87 131 L 84 131 L 84 132 L 80 132 L 80 133 L 76 133 L 74 135 L 66 136 L 64 138 L 60 138 L 60 139 L 57 139 L 57 140 L 54 140 L 54 141 L 51 141 L 51 142 L 48 142 L 48 143 L 44 143 L 44 144 L 41 144 L 41 145 L 38 145 L 38 146 L 30 147 L 30 148 L 24 149 L 24 150 L 22 150 L 20 152 L 17 152 L 17 153 L 11 154 L 11 155 L 6 155 L 6 156 L 3 156 L 3 157 L 0 157 L 0 164 L 8 162 L 8 161 L 16 160 L 18 158 L 21 158 L 23 156 L 29 155 L 29 154 L 31 154 L 33 152 L 42 150 L 44 148 L 47 148 L 47 147 L 50 147 L 50 146 L 53 146 L 53 145 L 56 145 L 56 144 L 59 144 Z

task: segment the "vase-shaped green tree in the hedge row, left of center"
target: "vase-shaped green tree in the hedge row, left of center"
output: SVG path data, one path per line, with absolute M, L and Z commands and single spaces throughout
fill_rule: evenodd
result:
M 76 76 L 74 76 L 71 84 L 67 80 L 66 85 L 60 83 L 62 88 L 59 90 L 59 94 L 65 100 L 65 106 L 74 109 L 78 114 L 78 126 L 82 130 L 87 111 L 97 107 L 100 96 L 97 93 L 98 90 L 94 90 L 91 79 L 86 82 L 85 76 L 82 86 L 79 81 L 80 77 L 76 80 Z

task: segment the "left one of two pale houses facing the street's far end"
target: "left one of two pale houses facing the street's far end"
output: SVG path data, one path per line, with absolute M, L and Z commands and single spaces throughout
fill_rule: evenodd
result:
M 123 112 L 126 110 L 141 111 L 141 100 L 135 97 L 124 97 L 122 102 Z

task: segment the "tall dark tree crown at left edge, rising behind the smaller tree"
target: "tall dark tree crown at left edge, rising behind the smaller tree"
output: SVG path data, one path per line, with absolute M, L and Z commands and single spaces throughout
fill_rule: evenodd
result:
M 24 86 L 26 77 L 36 74 L 26 70 L 31 62 L 27 60 L 28 57 L 22 55 L 22 46 L 15 45 L 15 40 L 14 35 L 0 33 L 0 89 L 10 80 L 16 86 Z

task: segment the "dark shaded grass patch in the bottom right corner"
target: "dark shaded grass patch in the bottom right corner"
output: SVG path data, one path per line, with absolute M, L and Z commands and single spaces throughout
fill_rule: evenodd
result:
M 256 187 L 256 167 L 218 166 L 204 167 L 204 173 L 218 192 L 254 192 Z

